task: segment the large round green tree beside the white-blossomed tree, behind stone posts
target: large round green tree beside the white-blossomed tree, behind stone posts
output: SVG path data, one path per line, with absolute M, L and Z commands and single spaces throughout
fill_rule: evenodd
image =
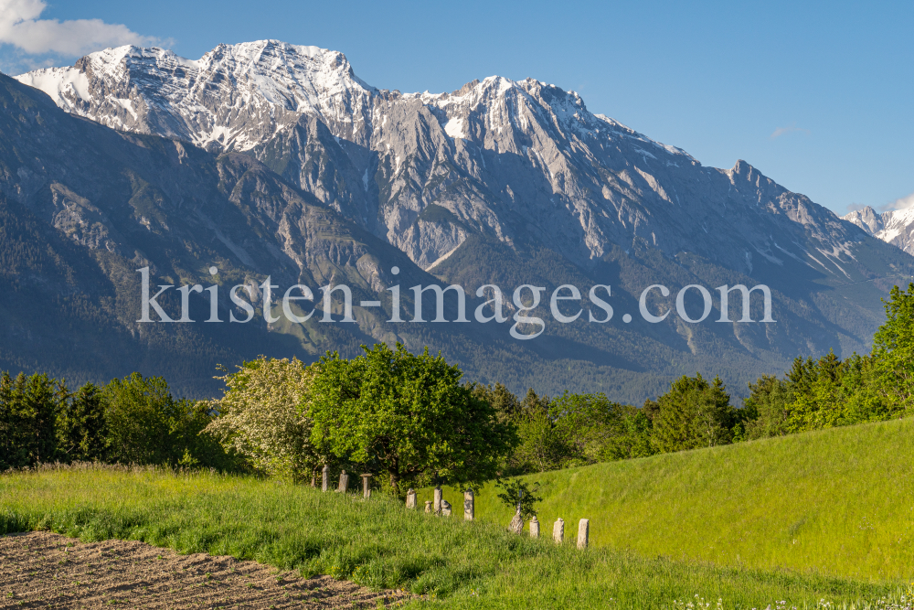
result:
M 376 463 L 398 495 L 422 476 L 467 485 L 496 474 L 514 426 L 460 383 L 458 367 L 428 348 L 362 348 L 352 360 L 328 352 L 317 365 L 308 406 L 319 453 Z

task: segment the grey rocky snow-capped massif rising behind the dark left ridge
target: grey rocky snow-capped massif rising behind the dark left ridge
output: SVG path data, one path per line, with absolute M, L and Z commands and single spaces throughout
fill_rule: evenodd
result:
M 16 78 L 115 129 L 253 155 L 427 269 L 483 233 L 584 265 L 643 243 L 744 272 L 792 257 L 845 273 L 859 239 L 745 162 L 703 167 L 532 79 L 377 90 L 342 53 L 275 40 L 198 60 L 107 49 Z

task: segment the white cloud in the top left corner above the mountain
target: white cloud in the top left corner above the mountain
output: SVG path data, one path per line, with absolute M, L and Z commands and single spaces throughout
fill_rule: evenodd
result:
M 152 46 L 160 42 L 101 19 L 39 19 L 46 7 L 43 0 L 0 0 L 0 44 L 10 44 L 33 55 L 78 56 L 101 48 Z

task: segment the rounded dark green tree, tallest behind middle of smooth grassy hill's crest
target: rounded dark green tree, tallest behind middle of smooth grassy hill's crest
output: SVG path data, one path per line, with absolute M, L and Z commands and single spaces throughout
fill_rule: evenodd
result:
M 656 402 L 652 442 L 658 451 L 684 451 L 732 441 L 737 413 L 719 378 L 708 383 L 700 374 L 684 375 Z

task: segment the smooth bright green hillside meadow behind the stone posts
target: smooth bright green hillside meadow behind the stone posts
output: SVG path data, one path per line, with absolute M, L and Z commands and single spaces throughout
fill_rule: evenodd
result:
M 526 476 L 541 529 L 590 519 L 596 546 L 717 565 L 914 579 L 914 419 Z M 477 493 L 476 517 L 513 512 Z M 456 490 L 445 499 L 462 503 Z M 422 490 L 420 500 L 431 498 Z M 420 502 L 421 504 L 421 502 Z

